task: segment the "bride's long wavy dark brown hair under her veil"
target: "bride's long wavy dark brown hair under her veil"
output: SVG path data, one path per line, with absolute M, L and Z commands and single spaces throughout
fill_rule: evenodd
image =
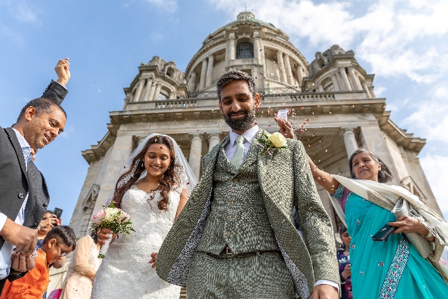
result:
M 174 152 L 174 145 L 173 142 L 171 141 L 171 139 L 167 136 L 162 136 L 162 135 L 156 135 L 154 137 L 149 138 L 149 140 L 146 142 L 146 145 L 144 146 L 144 148 L 142 149 L 141 152 L 139 152 L 139 154 L 137 154 L 134 159 L 132 159 L 132 164 L 129 167 L 129 170 L 127 172 L 124 172 L 124 174 L 122 174 L 118 181 L 117 184 L 115 185 L 115 191 L 114 191 L 114 196 L 112 198 L 112 201 L 114 202 L 114 206 L 116 208 L 121 209 L 122 208 L 122 199 L 123 199 L 123 195 L 124 193 L 127 192 L 127 190 L 129 190 L 129 188 L 131 188 L 131 186 L 137 182 L 137 180 L 140 178 L 140 175 L 146 170 L 144 168 L 144 154 L 146 153 L 146 150 L 148 150 L 148 147 L 154 144 L 159 144 L 159 145 L 166 145 L 166 147 L 169 148 L 169 154 L 171 156 L 171 162 L 169 164 L 169 167 L 166 169 L 163 177 L 159 180 L 159 189 L 160 191 L 160 195 L 161 195 L 161 200 L 159 200 L 159 202 L 157 203 L 157 206 L 159 207 L 159 209 L 166 211 L 168 209 L 168 205 L 169 205 L 169 192 L 171 189 L 173 189 L 173 187 L 176 184 L 179 184 L 179 182 L 181 182 L 181 178 L 178 176 L 177 173 L 181 173 L 181 172 L 177 172 L 175 171 L 176 167 L 182 167 L 181 165 L 177 165 L 174 164 L 174 161 L 176 160 L 176 154 Z M 121 187 L 118 187 L 119 182 L 124 179 L 125 177 L 127 177 L 129 174 L 131 174 L 132 172 L 134 172 L 134 174 L 132 174 L 132 177 L 130 177 L 128 179 L 128 181 L 126 183 L 124 183 Z

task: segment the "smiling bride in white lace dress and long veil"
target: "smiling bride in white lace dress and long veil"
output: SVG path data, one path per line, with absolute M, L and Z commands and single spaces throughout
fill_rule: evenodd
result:
M 135 232 L 110 244 L 95 276 L 92 299 L 179 298 L 180 287 L 157 276 L 154 258 L 195 185 L 171 137 L 151 134 L 139 144 L 107 203 L 113 201 L 131 216 Z

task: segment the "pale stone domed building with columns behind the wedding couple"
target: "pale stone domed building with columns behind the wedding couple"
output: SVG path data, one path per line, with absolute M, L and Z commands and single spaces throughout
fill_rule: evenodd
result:
M 215 84 L 235 69 L 255 79 L 262 95 L 261 128 L 277 131 L 274 112 L 286 107 L 297 138 L 321 169 L 348 176 L 348 157 L 361 145 L 368 147 L 390 165 L 392 184 L 409 189 L 441 214 L 417 157 L 425 140 L 390 120 L 385 98 L 375 96 L 374 75 L 359 65 L 353 51 L 331 46 L 308 63 L 281 29 L 243 12 L 207 36 L 185 72 L 158 56 L 139 65 L 124 88 L 123 109 L 110 112 L 105 137 L 82 152 L 90 166 L 70 224 L 78 237 L 110 196 L 129 154 L 150 133 L 174 137 L 201 176 L 201 157 L 229 132 Z M 329 196 L 319 185 L 318 190 L 336 230 Z

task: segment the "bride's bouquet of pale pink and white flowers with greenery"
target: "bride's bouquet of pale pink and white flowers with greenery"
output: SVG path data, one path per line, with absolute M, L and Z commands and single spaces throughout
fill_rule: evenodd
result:
M 102 228 L 110 229 L 113 234 L 129 235 L 132 228 L 132 222 L 127 213 L 121 209 L 114 207 L 111 202 L 109 207 L 102 206 L 102 209 L 92 217 L 90 221 L 90 231 L 97 232 Z M 108 234 L 110 238 L 105 240 L 105 244 L 101 246 L 98 258 L 105 258 L 110 241 L 112 241 L 112 234 Z

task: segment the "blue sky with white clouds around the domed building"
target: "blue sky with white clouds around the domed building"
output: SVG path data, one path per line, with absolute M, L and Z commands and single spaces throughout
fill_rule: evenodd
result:
M 68 224 L 88 164 L 80 152 L 107 132 L 109 111 L 121 110 L 137 66 L 153 56 L 185 70 L 202 41 L 238 12 L 287 33 L 308 61 L 333 44 L 355 51 L 392 120 L 427 138 L 420 162 L 448 218 L 447 1 L 308 0 L 0 0 L 0 126 L 9 127 L 28 100 L 55 79 L 60 58 L 72 78 L 63 103 L 65 132 L 38 152 L 50 209 Z

